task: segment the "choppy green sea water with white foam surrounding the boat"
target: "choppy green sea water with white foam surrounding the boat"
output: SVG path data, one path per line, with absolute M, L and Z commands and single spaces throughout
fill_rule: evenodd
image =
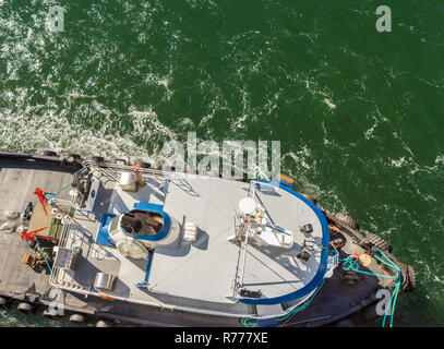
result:
M 0 147 L 159 163 L 188 132 L 280 141 L 297 190 L 415 266 L 394 325 L 444 325 L 443 1 L 0 0 Z

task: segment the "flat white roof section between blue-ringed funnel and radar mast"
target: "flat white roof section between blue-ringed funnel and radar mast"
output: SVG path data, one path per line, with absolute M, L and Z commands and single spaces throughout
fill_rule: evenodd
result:
M 153 291 L 213 302 L 232 302 L 239 248 L 227 238 L 235 233 L 233 215 L 245 196 L 242 182 L 188 180 L 192 194 L 172 181 L 165 212 L 180 222 L 197 225 L 197 240 L 180 249 L 156 249 L 149 275 Z

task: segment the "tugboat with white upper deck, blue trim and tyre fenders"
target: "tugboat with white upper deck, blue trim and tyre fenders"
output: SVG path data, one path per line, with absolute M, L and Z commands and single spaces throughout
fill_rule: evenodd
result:
M 388 325 L 415 269 L 292 186 L 0 151 L 0 303 L 97 326 L 251 327 L 340 325 L 385 302 Z

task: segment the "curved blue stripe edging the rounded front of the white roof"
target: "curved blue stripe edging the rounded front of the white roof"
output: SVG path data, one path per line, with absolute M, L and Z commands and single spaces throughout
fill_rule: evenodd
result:
M 280 304 L 285 302 L 290 302 L 297 299 L 300 299 L 309 293 L 311 293 L 314 289 L 316 289 L 322 280 L 325 277 L 325 273 L 327 269 L 327 262 L 328 262 L 328 244 L 329 244 L 329 229 L 328 229 L 328 222 L 325 219 L 324 215 L 322 212 L 308 198 L 302 196 L 301 194 L 297 193 L 296 191 L 278 183 L 274 183 L 271 181 L 266 180 L 257 180 L 257 182 L 271 184 L 277 188 L 280 188 L 281 190 L 285 190 L 286 192 L 295 195 L 296 197 L 300 198 L 303 203 L 305 203 L 315 214 L 317 219 L 321 221 L 322 226 L 322 245 L 324 246 L 324 251 L 321 252 L 321 263 L 320 267 L 317 268 L 317 272 L 315 276 L 312 278 L 312 280 L 307 284 L 304 287 L 301 289 L 279 296 L 279 297 L 274 297 L 274 298 L 260 298 L 260 299 L 250 299 L 250 298 L 241 298 L 240 301 L 244 304 L 263 304 L 263 305 L 271 305 L 271 304 Z

